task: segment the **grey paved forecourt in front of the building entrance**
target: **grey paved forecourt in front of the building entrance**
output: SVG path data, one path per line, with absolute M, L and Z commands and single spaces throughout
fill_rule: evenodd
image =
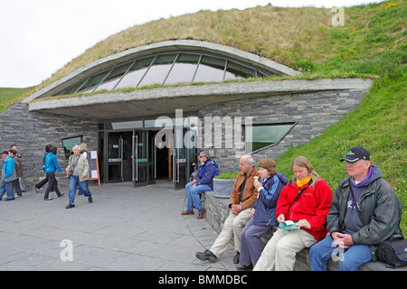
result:
M 172 182 L 92 184 L 93 203 L 77 195 L 70 210 L 68 188 L 61 191 L 65 196 L 51 192 L 50 201 L 44 189 L 0 201 L 0 270 L 235 270 L 232 246 L 220 262 L 195 257 L 218 234 L 196 214 L 180 214 L 186 192 L 174 191 Z

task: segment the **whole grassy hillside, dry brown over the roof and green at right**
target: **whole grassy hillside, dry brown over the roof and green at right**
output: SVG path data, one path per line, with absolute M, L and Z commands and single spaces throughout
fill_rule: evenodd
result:
M 377 76 L 360 107 L 310 144 L 292 148 L 276 161 L 279 171 L 291 177 L 293 158 L 307 156 L 335 190 L 346 175 L 345 164 L 338 160 L 350 147 L 364 146 L 402 200 L 402 230 L 407 236 L 406 6 L 398 0 L 345 8 L 345 25 L 336 27 L 331 9 L 271 5 L 160 19 L 97 43 L 36 89 L 109 54 L 185 38 L 250 51 L 301 70 L 309 79 Z

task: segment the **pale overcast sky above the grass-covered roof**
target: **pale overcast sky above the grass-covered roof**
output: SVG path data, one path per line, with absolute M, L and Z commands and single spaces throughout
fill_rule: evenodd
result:
M 0 0 L 0 88 L 36 86 L 97 42 L 160 18 L 269 3 L 331 8 L 374 2 L 381 0 Z

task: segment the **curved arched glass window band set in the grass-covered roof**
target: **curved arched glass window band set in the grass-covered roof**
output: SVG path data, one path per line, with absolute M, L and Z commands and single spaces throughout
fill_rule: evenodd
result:
M 270 75 L 270 71 L 260 70 L 227 57 L 196 51 L 175 51 L 156 53 L 118 64 L 81 79 L 56 95 L 137 88 L 153 84 L 261 78 Z

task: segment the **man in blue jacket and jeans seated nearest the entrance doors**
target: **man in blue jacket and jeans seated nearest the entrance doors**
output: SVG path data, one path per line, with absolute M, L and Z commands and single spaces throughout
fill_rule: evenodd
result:
M 213 191 L 213 178 L 219 175 L 218 164 L 211 160 L 209 152 L 202 151 L 198 154 L 201 167 L 198 172 L 198 180 L 193 180 L 185 185 L 188 193 L 186 210 L 182 215 L 194 215 L 194 208 L 198 210 L 198 219 L 204 218 L 205 209 L 202 207 L 200 195 L 204 191 Z

